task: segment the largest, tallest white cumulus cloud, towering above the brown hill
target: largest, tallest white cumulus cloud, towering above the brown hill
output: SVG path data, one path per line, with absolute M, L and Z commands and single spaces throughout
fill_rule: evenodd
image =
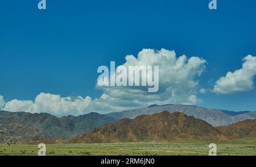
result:
M 104 96 L 96 99 L 97 103 L 108 103 L 112 109 L 127 110 L 144 107 L 152 103 L 187 103 L 195 105 L 200 102 L 196 97 L 199 77 L 205 69 L 207 61 L 200 57 L 185 55 L 176 56 L 175 51 L 161 49 L 143 49 L 136 58 L 133 55 L 125 57 L 122 66 L 159 66 L 159 91 L 148 93 L 142 86 L 137 87 L 101 87 Z M 197 100 L 196 100 L 197 99 Z M 93 102 L 95 102 L 93 101 Z M 108 108 L 108 106 L 106 106 Z M 113 108 L 114 107 L 114 108 Z

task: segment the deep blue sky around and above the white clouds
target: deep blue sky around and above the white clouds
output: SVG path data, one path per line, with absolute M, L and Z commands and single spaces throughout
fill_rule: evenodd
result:
M 97 68 L 143 48 L 175 50 L 207 61 L 199 87 L 213 89 L 242 59 L 256 56 L 256 2 L 3 1 L 0 7 L 0 94 L 34 101 L 40 93 L 100 98 Z M 254 78 L 255 82 L 255 78 Z M 256 110 L 256 91 L 197 94 L 199 106 Z

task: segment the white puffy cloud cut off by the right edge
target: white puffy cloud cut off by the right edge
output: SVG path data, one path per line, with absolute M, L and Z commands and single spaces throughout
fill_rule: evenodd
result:
M 253 79 L 256 75 L 256 57 L 248 55 L 243 59 L 242 68 L 228 72 L 225 77 L 218 79 L 213 92 L 232 94 L 253 89 Z

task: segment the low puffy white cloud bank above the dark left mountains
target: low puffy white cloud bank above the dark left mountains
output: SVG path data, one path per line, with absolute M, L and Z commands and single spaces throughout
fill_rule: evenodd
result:
M 90 97 L 64 97 L 40 93 L 35 101 L 18 101 L 14 99 L 5 105 L 6 111 L 49 112 L 54 115 L 79 115 L 86 113 L 92 99 Z M 87 111 L 88 112 L 88 111 Z

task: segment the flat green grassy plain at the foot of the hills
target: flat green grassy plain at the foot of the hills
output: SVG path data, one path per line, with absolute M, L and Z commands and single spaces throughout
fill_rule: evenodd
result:
M 47 156 L 154 156 L 189 155 L 207 156 L 211 142 L 160 142 L 160 143 L 100 143 L 100 144 L 47 144 Z M 217 155 L 254 155 L 256 141 L 212 142 Z M 36 156 L 38 145 L 0 144 L 0 155 Z

